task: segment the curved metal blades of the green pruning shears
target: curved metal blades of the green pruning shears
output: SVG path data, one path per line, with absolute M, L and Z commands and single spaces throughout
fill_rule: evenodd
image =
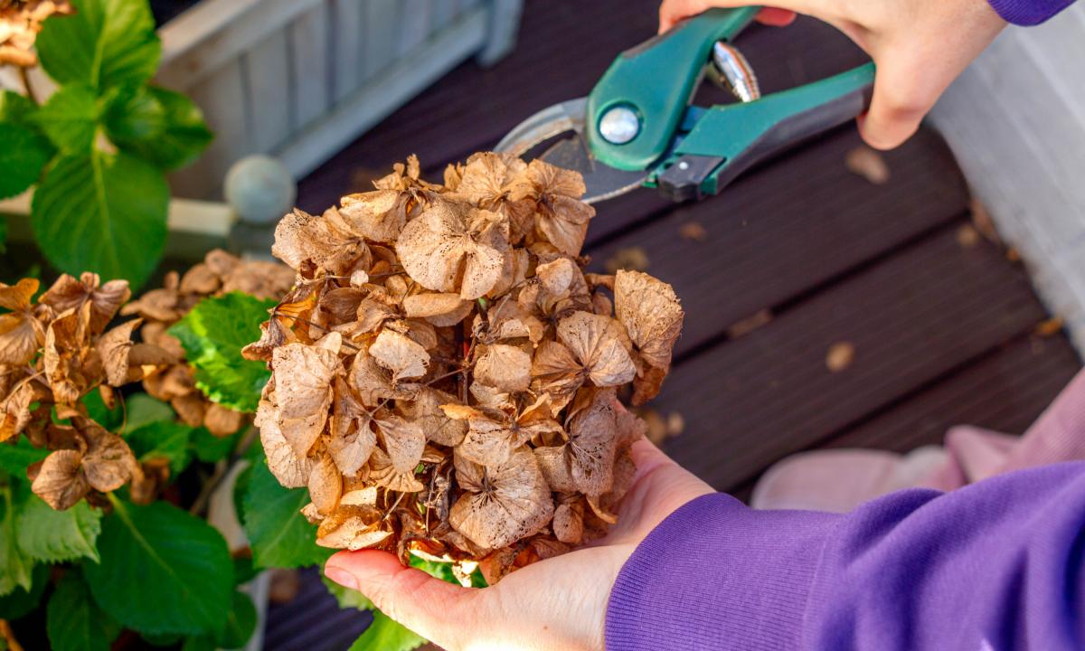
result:
M 604 201 L 639 188 L 648 179 L 648 173 L 616 169 L 591 155 L 584 137 L 586 107 L 586 98 L 579 98 L 539 111 L 501 139 L 495 151 L 523 156 L 534 146 L 571 132 L 567 138 L 547 149 L 539 158 L 580 173 L 587 187 L 583 197 L 585 202 L 590 204 Z

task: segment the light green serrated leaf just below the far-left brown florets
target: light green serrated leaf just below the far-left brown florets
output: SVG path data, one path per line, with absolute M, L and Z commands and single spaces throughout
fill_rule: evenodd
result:
M 94 544 L 102 531 L 102 512 L 86 501 L 56 511 L 30 495 L 16 515 L 15 529 L 20 549 L 35 560 L 59 563 L 88 558 L 98 562 Z

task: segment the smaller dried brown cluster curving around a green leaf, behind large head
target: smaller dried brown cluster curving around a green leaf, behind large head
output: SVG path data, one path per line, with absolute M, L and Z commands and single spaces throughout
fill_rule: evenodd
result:
M 246 417 L 212 403 L 196 388 L 181 343 L 167 330 L 207 296 L 244 292 L 261 299 L 278 298 L 293 284 L 294 272 L 278 263 L 240 259 L 221 250 L 208 253 L 202 264 L 183 276 L 176 271 L 167 273 L 161 289 L 151 290 L 120 308 L 122 315 L 139 315 L 143 319 L 142 340 L 168 350 L 175 360 L 168 368 L 144 378 L 143 390 L 169 403 L 190 426 L 204 425 L 216 436 L 237 432 Z

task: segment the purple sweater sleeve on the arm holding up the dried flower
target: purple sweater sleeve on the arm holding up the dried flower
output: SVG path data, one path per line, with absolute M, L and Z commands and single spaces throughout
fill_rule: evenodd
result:
M 609 651 L 1085 649 L 1085 462 L 843 515 L 695 499 L 622 567 L 605 639 Z

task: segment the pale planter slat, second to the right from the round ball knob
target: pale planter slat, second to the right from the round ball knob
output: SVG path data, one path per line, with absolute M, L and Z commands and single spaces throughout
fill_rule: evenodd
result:
M 298 16 L 288 31 L 291 132 L 322 116 L 332 102 L 330 13 L 330 3 L 318 4 Z

